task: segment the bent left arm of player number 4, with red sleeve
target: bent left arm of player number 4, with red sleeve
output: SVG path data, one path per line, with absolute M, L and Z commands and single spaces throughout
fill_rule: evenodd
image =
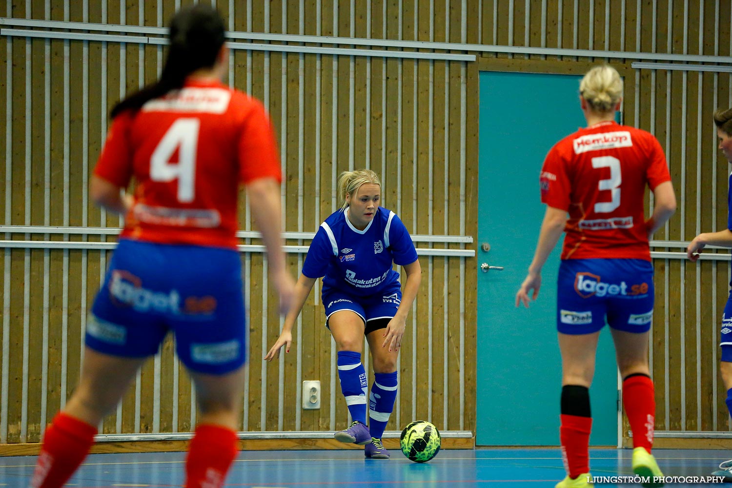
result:
M 132 115 L 121 113 L 112 121 L 109 135 L 89 182 L 89 198 L 98 206 L 116 214 L 126 214 L 132 206 L 132 195 L 124 189 L 132 177 L 130 124 Z

